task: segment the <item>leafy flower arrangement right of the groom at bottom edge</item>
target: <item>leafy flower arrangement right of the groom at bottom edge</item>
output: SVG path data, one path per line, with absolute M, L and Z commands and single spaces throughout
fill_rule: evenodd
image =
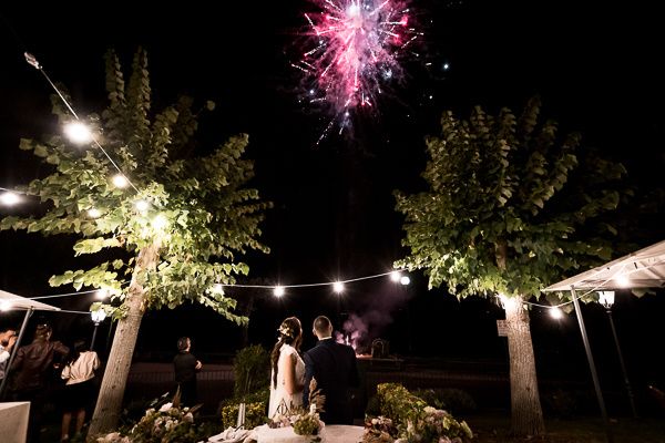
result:
M 383 416 L 366 421 L 366 443 L 391 442 L 388 436 L 395 443 L 462 443 L 473 437 L 466 422 L 429 406 L 401 384 L 379 384 L 377 396 Z

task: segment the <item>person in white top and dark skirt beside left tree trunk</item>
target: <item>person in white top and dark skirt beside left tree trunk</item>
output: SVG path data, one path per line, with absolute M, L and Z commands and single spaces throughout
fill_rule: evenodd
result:
M 96 352 L 85 346 L 85 341 L 74 343 L 74 352 L 62 369 L 62 379 L 66 380 L 63 395 L 61 442 L 69 441 L 72 414 L 76 414 L 75 434 L 81 432 L 85 422 L 85 409 L 94 402 L 96 384 L 94 371 L 100 367 Z

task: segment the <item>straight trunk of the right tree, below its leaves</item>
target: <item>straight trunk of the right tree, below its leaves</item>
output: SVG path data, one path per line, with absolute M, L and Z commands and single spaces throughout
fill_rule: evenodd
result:
M 511 432 L 514 435 L 542 435 L 545 432 L 538 392 L 535 359 L 529 312 L 522 297 L 505 300 L 508 352 L 510 356 Z

